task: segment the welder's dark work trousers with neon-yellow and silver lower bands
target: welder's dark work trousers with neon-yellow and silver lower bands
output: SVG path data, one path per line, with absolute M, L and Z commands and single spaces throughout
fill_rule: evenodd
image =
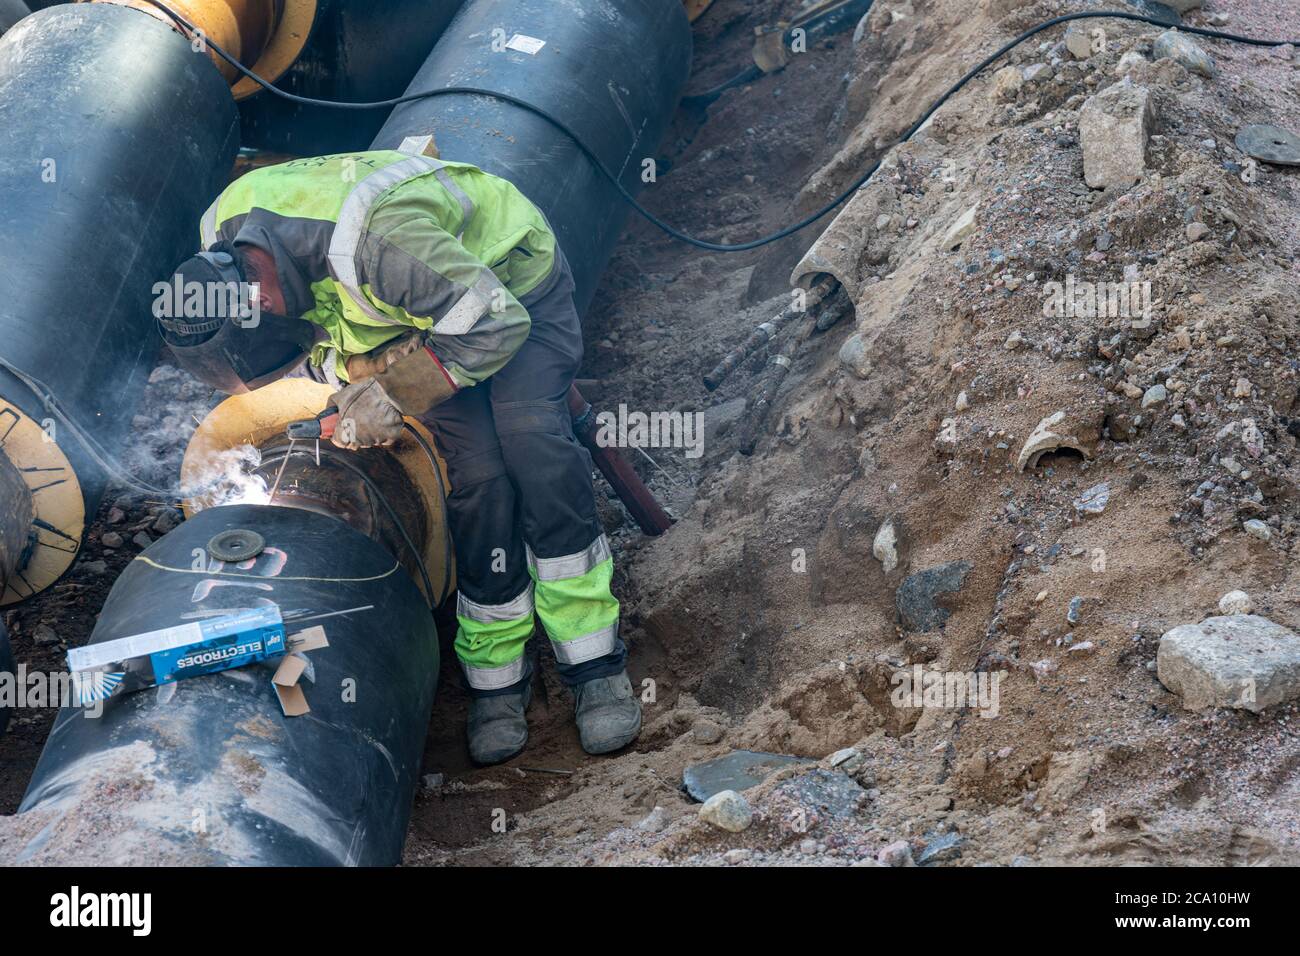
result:
M 474 695 L 514 692 L 530 679 L 534 614 L 571 685 L 618 674 L 627 658 L 592 457 L 568 414 L 582 329 L 563 254 L 521 304 L 532 326 L 520 350 L 421 419 L 447 462 L 455 648 Z

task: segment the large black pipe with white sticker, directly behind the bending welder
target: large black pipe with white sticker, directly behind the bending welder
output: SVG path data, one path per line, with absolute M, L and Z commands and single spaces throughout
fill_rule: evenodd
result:
M 511 47 L 516 34 L 545 46 Z M 636 193 L 689 72 L 690 25 L 677 0 L 469 0 L 407 92 L 464 86 L 523 99 L 572 127 Z M 442 159 L 510 179 L 546 213 L 584 312 L 627 219 L 614 186 L 555 126 L 491 96 L 400 105 L 373 148 L 430 133 Z

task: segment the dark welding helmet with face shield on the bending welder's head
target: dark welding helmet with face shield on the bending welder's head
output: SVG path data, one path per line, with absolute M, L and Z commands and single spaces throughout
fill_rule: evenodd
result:
M 289 375 L 316 338 L 316 326 L 306 319 L 259 307 L 234 247 L 225 242 L 186 259 L 153 291 L 153 315 L 177 364 L 231 395 Z

